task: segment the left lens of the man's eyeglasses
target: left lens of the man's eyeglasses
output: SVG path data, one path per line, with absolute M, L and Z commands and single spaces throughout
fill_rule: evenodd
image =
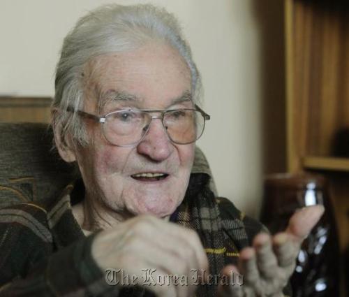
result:
M 105 138 L 113 145 L 133 145 L 144 136 L 150 115 L 138 110 L 120 110 L 107 115 L 103 124 Z

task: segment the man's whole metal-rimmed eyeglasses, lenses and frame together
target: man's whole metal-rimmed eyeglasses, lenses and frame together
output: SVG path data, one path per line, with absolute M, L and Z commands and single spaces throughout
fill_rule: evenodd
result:
M 67 111 L 74 112 L 68 107 Z M 107 113 L 103 117 L 76 111 L 77 115 L 93 119 L 102 124 L 105 139 L 112 145 L 129 147 L 138 145 L 149 131 L 151 120 L 161 119 L 163 127 L 172 143 L 186 145 L 198 140 L 205 129 L 205 121 L 210 116 L 195 105 L 192 108 L 179 108 L 170 110 L 117 110 Z M 151 115 L 160 113 L 160 115 Z

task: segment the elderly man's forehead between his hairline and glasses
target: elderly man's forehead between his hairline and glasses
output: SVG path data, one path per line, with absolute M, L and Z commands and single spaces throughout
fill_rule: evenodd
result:
M 111 102 L 163 109 L 192 101 L 191 72 L 169 45 L 149 44 L 131 52 L 101 55 L 89 61 L 85 71 L 85 94 L 100 113 Z

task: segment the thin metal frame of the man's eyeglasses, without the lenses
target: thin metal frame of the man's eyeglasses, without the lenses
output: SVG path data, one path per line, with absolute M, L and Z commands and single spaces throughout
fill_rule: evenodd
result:
M 87 113 L 87 112 L 85 112 L 83 110 L 76 110 L 75 111 L 74 108 L 72 108 L 70 106 L 68 106 L 68 108 L 66 110 L 68 112 L 70 112 L 70 113 L 74 113 L 75 112 L 80 117 L 84 117 L 86 119 L 92 119 L 95 122 L 98 122 L 100 124 L 104 124 L 106 122 L 106 120 L 107 120 L 107 117 L 109 117 L 110 115 L 112 115 L 114 113 L 120 113 L 120 112 L 123 112 L 123 111 L 142 111 L 142 112 L 145 112 L 145 113 L 161 113 L 160 115 L 150 115 L 151 116 L 150 122 L 149 122 L 149 124 L 147 126 L 147 130 L 144 131 L 144 135 L 140 138 L 140 140 L 138 140 L 138 142 L 132 143 L 130 145 L 116 145 L 116 144 L 112 143 L 110 140 L 107 139 L 107 136 L 105 136 L 105 129 L 102 128 L 103 136 L 104 136 L 105 140 L 107 140 L 107 142 L 110 143 L 111 145 L 115 145 L 117 147 L 133 147 L 133 146 L 138 145 L 145 138 L 145 136 L 147 136 L 147 133 L 149 131 L 149 127 L 150 127 L 151 121 L 153 119 L 161 119 L 161 123 L 163 124 L 163 129 L 165 130 L 165 133 L 168 136 L 168 139 L 172 143 L 175 143 L 177 145 L 188 145 L 190 143 L 194 143 L 196 140 L 198 140 L 202 136 L 202 133 L 204 133 L 206 121 L 211 119 L 211 116 L 209 114 L 205 113 L 205 111 L 202 110 L 198 105 L 195 104 L 194 107 L 195 108 L 175 108 L 175 109 L 165 109 L 165 110 L 161 110 L 161 109 L 132 109 L 132 108 L 128 108 L 128 109 L 122 109 L 122 110 L 114 110 L 114 111 L 112 111 L 110 113 L 102 115 L 101 117 L 99 117 L 98 115 L 94 115 L 92 113 Z M 193 141 L 191 141 L 189 143 L 177 143 L 176 141 L 172 140 L 172 138 L 168 134 L 168 131 L 167 131 L 166 126 L 165 126 L 165 123 L 163 122 L 165 113 L 172 112 L 172 111 L 181 111 L 181 110 L 198 111 L 198 112 L 201 113 L 202 117 L 204 118 L 204 125 L 202 127 L 202 132 L 201 132 L 200 136 L 198 136 L 198 138 L 196 138 L 195 140 L 193 140 Z

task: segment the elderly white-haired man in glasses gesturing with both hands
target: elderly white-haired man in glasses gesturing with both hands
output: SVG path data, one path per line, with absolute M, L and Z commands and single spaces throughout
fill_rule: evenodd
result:
M 57 65 L 52 127 L 84 191 L 76 182 L 57 201 L 8 208 L 20 214 L 12 223 L 0 217 L 0 296 L 283 296 L 323 210 L 297 212 L 271 238 L 214 197 L 205 173 L 191 175 L 209 119 L 199 91 L 190 48 L 165 10 L 104 6 L 77 22 Z M 237 271 L 242 286 L 231 282 Z M 186 282 L 156 281 L 173 275 Z

